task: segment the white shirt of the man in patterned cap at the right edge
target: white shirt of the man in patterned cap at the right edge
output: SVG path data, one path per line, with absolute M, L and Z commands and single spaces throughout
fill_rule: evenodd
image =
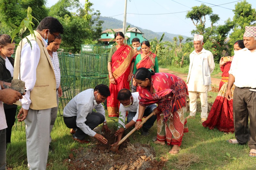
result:
M 256 88 L 256 50 L 250 51 L 247 48 L 236 52 L 231 63 L 229 74 L 235 77 L 236 87 Z

